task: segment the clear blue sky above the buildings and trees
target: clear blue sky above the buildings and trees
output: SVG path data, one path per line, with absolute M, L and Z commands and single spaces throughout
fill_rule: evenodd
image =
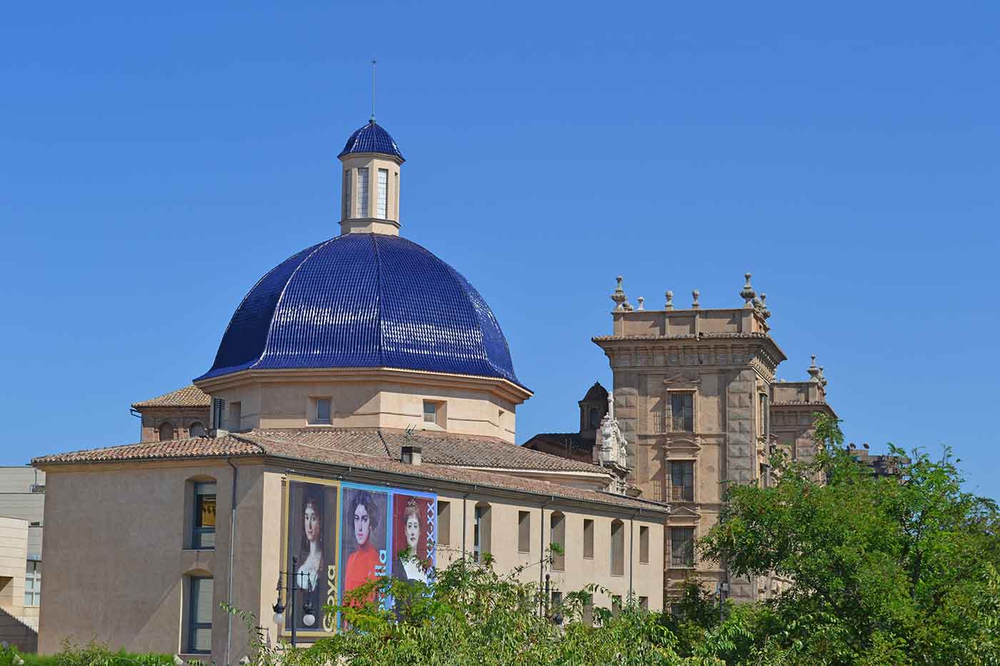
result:
M 1000 498 L 992 2 L 14 3 L 0 24 L 0 463 L 135 441 L 257 278 L 338 233 L 369 114 L 403 234 L 463 272 L 574 430 L 608 295 L 733 307 L 742 274 L 848 436 Z

